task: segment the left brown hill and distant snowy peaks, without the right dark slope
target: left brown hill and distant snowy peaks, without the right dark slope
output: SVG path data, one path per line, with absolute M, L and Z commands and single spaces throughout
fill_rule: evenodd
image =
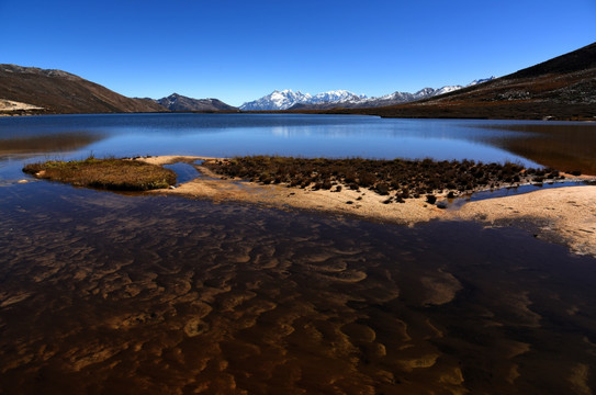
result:
M 236 112 L 368 108 L 405 103 L 461 89 L 425 88 L 416 93 L 394 92 L 368 98 L 346 90 L 302 93 L 273 91 L 239 109 L 217 99 L 193 99 L 178 93 L 167 98 L 126 98 L 72 74 L 36 67 L 0 65 L 0 112 L 13 114 L 127 113 L 127 112 Z M 9 104 L 10 103 L 10 104 Z

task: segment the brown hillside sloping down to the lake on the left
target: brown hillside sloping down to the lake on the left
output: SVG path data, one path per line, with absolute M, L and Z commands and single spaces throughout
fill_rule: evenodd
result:
M 0 99 L 41 106 L 35 113 L 121 113 L 167 111 L 60 70 L 0 65 Z

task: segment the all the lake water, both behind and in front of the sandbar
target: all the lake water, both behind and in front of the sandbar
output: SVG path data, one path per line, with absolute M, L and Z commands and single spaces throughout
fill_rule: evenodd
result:
M 27 161 L 89 154 L 470 158 L 588 172 L 594 131 L 364 116 L 0 119 L 0 393 L 591 394 L 596 259 L 526 230 L 16 181 Z

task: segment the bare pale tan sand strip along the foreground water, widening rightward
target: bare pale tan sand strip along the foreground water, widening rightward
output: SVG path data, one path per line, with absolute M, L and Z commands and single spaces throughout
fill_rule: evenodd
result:
M 205 157 L 161 156 L 140 160 L 165 165 L 192 162 Z M 487 226 L 521 224 L 537 237 L 566 245 L 573 252 L 596 257 L 596 187 L 569 187 L 541 190 L 507 198 L 470 202 L 460 210 L 441 210 L 425 199 L 383 204 L 386 196 L 369 190 L 341 192 L 311 191 L 285 185 L 262 185 L 238 180 L 222 180 L 204 167 L 202 177 L 179 188 L 151 193 L 238 201 L 274 207 L 297 207 L 356 215 L 363 218 L 414 225 L 431 219 L 479 221 Z

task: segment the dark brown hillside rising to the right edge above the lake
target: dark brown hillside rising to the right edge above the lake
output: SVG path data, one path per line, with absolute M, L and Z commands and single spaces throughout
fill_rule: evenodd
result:
M 387 117 L 596 119 L 596 43 L 505 77 L 418 102 L 341 110 Z

